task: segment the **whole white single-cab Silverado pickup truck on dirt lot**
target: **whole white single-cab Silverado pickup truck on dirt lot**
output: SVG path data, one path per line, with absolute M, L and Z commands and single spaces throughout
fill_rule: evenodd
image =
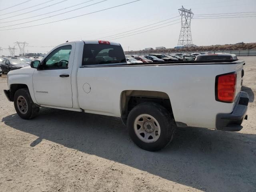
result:
M 8 73 L 8 100 L 21 118 L 40 107 L 121 117 L 145 150 L 164 148 L 176 127 L 239 131 L 247 119 L 243 60 L 127 64 L 122 47 L 75 41 Z

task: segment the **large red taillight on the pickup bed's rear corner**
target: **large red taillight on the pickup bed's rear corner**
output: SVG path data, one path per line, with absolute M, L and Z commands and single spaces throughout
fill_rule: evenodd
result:
M 236 72 L 216 76 L 216 101 L 232 103 L 236 96 Z

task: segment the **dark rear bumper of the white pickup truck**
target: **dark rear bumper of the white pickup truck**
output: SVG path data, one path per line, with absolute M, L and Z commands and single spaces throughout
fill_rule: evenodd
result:
M 244 119 L 247 119 L 246 111 L 249 96 L 246 92 L 240 92 L 239 101 L 230 114 L 221 113 L 216 116 L 216 129 L 222 131 L 240 131 Z

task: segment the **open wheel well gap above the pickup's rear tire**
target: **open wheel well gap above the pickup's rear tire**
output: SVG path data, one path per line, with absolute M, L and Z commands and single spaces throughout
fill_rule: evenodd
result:
M 143 102 L 158 103 L 166 108 L 173 116 L 170 98 L 165 92 L 148 90 L 124 90 L 120 96 L 120 112 L 124 124 L 126 124 L 127 116 L 132 108 Z

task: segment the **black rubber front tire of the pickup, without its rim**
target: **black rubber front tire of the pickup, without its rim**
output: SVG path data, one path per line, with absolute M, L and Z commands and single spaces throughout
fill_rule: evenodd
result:
M 25 100 L 26 100 L 26 103 L 27 103 L 27 111 L 24 114 L 22 112 L 20 112 L 20 110 L 18 109 L 19 106 L 18 106 L 17 100 L 20 96 L 24 97 Z M 38 106 L 36 106 L 34 104 L 34 102 L 32 101 L 29 90 L 27 88 L 22 88 L 22 89 L 19 89 L 15 92 L 15 94 L 14 94 L 14 108 L 15 108 L 17 114 L 22 119 L 32 119 L 32 118 L 34 118 L 35 116 L 38 115 L 38 112 L 40 110 L 40 108 Z

